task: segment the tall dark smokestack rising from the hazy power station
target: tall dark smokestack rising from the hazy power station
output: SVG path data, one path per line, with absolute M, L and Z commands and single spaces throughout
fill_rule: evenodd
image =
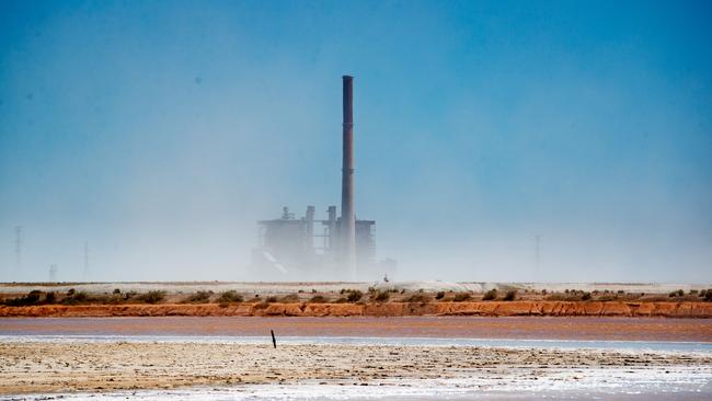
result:
M 344 163 L 341 181 L 340 244 L 343 263 L 356 276 L 356 220 L 354 218 L 354 77 L 344 76 Z

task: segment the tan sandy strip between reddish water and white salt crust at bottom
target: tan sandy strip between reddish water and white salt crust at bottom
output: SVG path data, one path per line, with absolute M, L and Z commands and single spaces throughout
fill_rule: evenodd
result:
M 0 343 L 0 393 L 5 396 L 268 383 L 397 386 L 403 380 L 496 387 L 576 382 L 601 373 L 610 380 L 658 375 L 704 383 L 712 378 L 712 356 L 469 346 Z

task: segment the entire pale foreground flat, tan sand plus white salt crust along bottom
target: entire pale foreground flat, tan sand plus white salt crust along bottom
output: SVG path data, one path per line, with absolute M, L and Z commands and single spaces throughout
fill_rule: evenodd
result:
M 191 393 L 207 399 L 241 399 L 245 394 L 289 398 L 323 387 L 317 393 L 323 392 L 325 399 L 338 394 L 456 397 L 507 391 L 604 391 L 612 396 L 669 392 L 704 398 L 712 396 L 712 354 L 305 343 L 280 344 L 275 350 L 268 343 L 202 342 L 200 337 L 190 342 L 24 339 L 0 343 L 0 382 L 5 397 L 67 391 L 80 397 L 113 397 L 124 390 L 160 389 L 163 392 L 149 391 L 145 398 L 171 398 L 180 391 L 187 391 L 187 398 Z M 353 386 L 369 389 L 340 390 Z M 287 391 L 290 388 L 294 391 Z M 211 397 L 210 391 L 228 396 Z

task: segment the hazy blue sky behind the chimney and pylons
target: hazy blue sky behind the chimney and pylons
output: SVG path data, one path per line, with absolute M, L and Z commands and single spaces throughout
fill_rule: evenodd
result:
M 254 220 L 338 204 L 351 73 L 399 278 L 712 282 L 711 33 L 696 1 L 1 1 L 0 280 L 81 279 L 84 241 L 92 279 L 244 278 Z

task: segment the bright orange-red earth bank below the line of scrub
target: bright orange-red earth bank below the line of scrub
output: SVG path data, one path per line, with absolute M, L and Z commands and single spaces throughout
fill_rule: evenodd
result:
M 712 302 L 622 301 L 480 301 L 480 302 L 386 302 L 386 303 L 217 303 L 183 305 L 44 305 L 0 307 L 0 317 L 661 317 L 712 318 Z

